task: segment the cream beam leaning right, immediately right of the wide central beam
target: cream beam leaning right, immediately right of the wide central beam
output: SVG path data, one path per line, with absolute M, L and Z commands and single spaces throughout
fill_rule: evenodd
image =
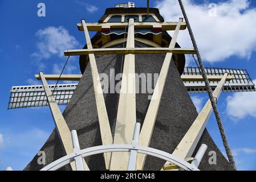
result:
M 182 18 L 180 18 L 178 20 L 178 24 L 174 31 L 172 41 L 170 42 L 169 48 L 175 47 L 182 20 L 183 20 Z M 166 53 L 164 63 L 162 64 L 161 72 L 160 72 L 159 78 L 157 80 L 156 87 L 155 87 L 151 102 L 149 104 L 148 111 L 145 116 L 143 126 L 141 128 L 140 139 L 139 139 L 140 146 L 148 147 L 151 142 L 151 137 L 152 137 L 153 129 L 155 127 L 155 122 L 156 122 L 156 117 L 157 117 L 157 113 L 159 110 L 162 92 L 164 91 L 164 85 L 165 85 L 166 77 L 167 77 L 168 71 L 169 71 L 170 61 L 172 61 L 172 55 L 173 55 L 173 53 L 169 53 L 169 52 Z M 145 154 L 138 155 L 138 162 L 137 162 L 138 170 L 143 170 L 145 159 L 146 159 Z

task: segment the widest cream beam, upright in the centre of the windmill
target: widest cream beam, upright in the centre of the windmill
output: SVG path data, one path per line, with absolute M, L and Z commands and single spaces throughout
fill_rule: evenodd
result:
M 135 47 L 134 20 L 129 19 L 127 48 Z M 117 109 L 114 144 L 131 144 L 136 123 L 135 55 L 124 58 L 119 105 Z M 113 152 L 110 169 L 127 170 L 128 152 Z

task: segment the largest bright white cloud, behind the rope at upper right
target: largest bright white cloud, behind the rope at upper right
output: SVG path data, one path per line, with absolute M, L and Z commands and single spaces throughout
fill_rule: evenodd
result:
M 247 0 L 229 0 L 217 4 L 217 16 L 210 16 L 209 3 L 183 0 L 198 47 L 204 60 L 222 61 L 232 55 L 248 59 L 256 51 L 256 9 Z M 156 3 L 165 21 L 183 17 L 178 1 Z M 170 34 L 172 35 L 172 34 Z M 181 31 L 181 47 L 192 47 L 188 31 Z

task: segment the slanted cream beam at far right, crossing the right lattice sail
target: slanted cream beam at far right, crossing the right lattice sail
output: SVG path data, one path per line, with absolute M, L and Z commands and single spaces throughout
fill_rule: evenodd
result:
M 216 101 L 220 97 L 226 78 L 227 78 L 227 73 L 224 74 L 217 88 L 213 92 L 213 96 L 216 98 Z M 202 136 L 202 133 L 205 130 L 206 124 L 208 123 L 208 120 L 212 112 L 213 112 L 213 107 L 210 100 L 208 100 L 204 108 L 201 110 L 200 114 L 197 116 L 196 120 L 193 122 L 193 124 L 190 126 L 185 136 L 182 138 L 181 142 L 173 151 L 172 153 L 173 155 L 176 155 L 182 159 L 190 158 L 192 156 L 194 149 L 196 148 Z M 165 166 L 169 166 L 169 162 L 165 163 L 162 170 L 165 168 Z

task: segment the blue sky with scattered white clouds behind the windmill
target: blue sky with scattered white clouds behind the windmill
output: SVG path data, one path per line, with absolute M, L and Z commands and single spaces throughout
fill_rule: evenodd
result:
M 37 16 L 40 2 L 46 5 L 46 17 Z M 15 170 L 23 169 L 54 129 L 48 107 L 7 110 L 11 86 L 40 83 L 33 77 L 40 70 L 48 74 L 60 73 L 65 61 L 63 51 L 81 48 L 86 43 L 76 23 L 83 18 L 87 22 L 96 22 L 107 7 L 119 2 L 123 1 L 0 0 L 0 170 L 8 166 Z M 136 7 L 146 5 L 146 1 L 134 2 Z M 151 1 L 151 7 L 159 7 L 166 20 L 176 21 L 180 10 L 173 2 Z M 216 17 L 206 16 L 209 3 L 217 3 Z M 205 65 L 245 68 L 256 79 L 256 37 L 253 29 L 256 28 L 256 2 L 184 0 L 184 5 Z M 182 47 L 190 44 L 187 32 L 178 40 Z M 191 57 L 187 59 L 188 65 L 193 65 Z M 79 73 L 78 57 L 72 57 L 66 73 Z M 198 110 L 207 101 L 206 94 L 193 94 L 192 98 Z M 218 101 L 238 169 L 256 169 L 254 103 L 255 93 L 222 93 Z M 214 116 L 207 127 L 224 151 Z

